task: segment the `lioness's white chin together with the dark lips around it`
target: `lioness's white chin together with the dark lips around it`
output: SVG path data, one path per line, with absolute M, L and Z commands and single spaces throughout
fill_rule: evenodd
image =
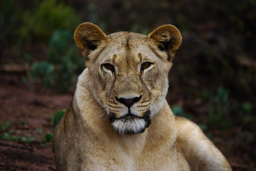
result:
M 151 124 L 150 111 L 146 111 L 143 117 L 130 113 L 121 118 L 115 118 L 113 113 L 110 115 L 111 125 L 119 134 L 140 134 Z

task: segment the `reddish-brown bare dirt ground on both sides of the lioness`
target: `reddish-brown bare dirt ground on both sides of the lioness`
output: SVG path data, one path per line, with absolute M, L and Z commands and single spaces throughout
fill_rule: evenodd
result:
M 56 95 L 50 90 L 25 86 L 22 84 L 22 76 L 17 73 L 0 73 L 0 121 L 10 122 L 9 131 L 12 135 L 34 137 L 35 140 L 31 143 L 0 140 L 0 171 L 56 170 L 52 142 L 42 145 L 41 138 L 46 133 L 53 133 L 53 113 L 66 109 L 72 94 Z M 3 133 L 1 131 L 0 135 Z M 221 138 L 223 136 L 218 135 L 217 131 L 213 132 L 213 142 L 226 155 L 228 149 L 222 146 Z M 253 161 L 245 163 L 247 160 L 232 155 L 226 155 L 226 158 L 234 171 L 256 171 L 250 164 Z

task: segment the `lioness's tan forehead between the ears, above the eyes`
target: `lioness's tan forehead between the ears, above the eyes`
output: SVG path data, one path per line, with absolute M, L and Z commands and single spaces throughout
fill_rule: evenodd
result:
M 146 35 L 131 32 L 117 32 L 108 35 L 109 42 L 100 53 L 100 62 L 138 64 L 146 56 L 156 56 L 152 51 L 154 42 Z

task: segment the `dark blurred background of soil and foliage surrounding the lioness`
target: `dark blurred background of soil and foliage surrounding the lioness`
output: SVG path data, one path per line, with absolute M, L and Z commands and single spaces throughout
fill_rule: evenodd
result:
M 54 126 L 85 60 L 73 33 L 173 24 L 183 40 L 169 72 L 175 115 L 196 122 L 234 171 L 256 170 L 256 0 L 0 1 L 0 170 L 55 170 Z

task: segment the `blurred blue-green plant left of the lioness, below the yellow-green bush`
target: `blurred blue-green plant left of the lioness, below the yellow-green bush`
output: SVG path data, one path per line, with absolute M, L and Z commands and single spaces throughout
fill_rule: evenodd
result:
M 50 39 L 47 62 L 34 62 L 29 76 L 37 84 L 54 87 L 58 93 L 66 93 L 74 85 L 76 73 L 84 69 L 84 64 L 72 33 L 58 29 Z

